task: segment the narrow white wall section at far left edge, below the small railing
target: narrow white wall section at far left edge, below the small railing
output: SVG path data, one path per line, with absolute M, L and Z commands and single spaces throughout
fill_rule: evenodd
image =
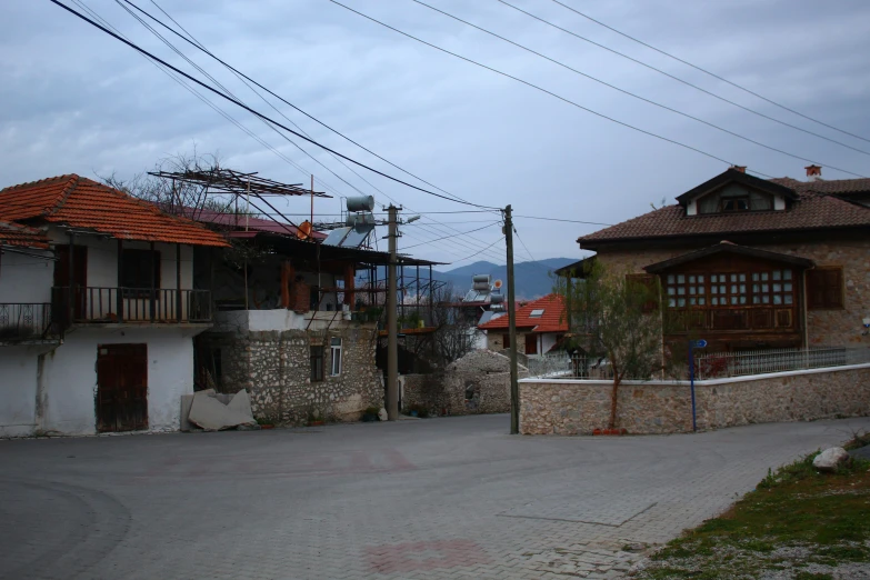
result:
M 33 434 L 37 360 L 34 349 L 0 347 L 0 437 Z

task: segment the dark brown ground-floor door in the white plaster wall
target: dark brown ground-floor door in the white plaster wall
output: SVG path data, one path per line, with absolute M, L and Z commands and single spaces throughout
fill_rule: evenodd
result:
M 97 430 L 148 429 L 148 346 L 97 347 Z

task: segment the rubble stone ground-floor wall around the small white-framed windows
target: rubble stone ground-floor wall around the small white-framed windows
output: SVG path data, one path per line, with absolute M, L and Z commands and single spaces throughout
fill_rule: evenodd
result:
M 367 407 L 383 407 L 374 366 L 374 328 L 357 324 L 329 331 L 207 332 L 204 348 L 219 349 L 219 392 L 247 389 L 253 416 L 303 424 L 309 413 L 330 421 L 356 421 Z M 341 373 L 330 376 L 332 338 L 341 338 Z M 311 381 L 310 347 L 323 347 L 323 380 Z

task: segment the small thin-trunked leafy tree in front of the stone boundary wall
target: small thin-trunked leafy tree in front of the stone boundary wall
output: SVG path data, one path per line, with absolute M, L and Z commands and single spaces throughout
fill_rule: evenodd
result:
M 606 357 L 613 371 L 610 421 L 617 422 L 619 386 L 626 379 L 648 380 L 662 369 L 662 323 L 657 312 L 660 289 L 652 277 L 609 271 L 597 260 L 579 282 L 561 279 L 574 343 L 588 357 Z

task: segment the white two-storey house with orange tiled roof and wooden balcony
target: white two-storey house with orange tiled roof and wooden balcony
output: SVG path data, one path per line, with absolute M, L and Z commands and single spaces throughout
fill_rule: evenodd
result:
M 206 228 L 78 176 L 0 191 L 0 437 L 169 431 L 193 392 Z

